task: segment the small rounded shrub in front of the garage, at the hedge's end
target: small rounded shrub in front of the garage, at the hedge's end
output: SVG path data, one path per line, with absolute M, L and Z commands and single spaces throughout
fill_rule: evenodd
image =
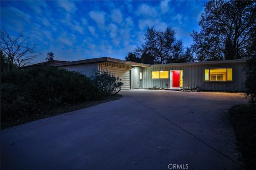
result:
M 98 71 L 96 76 L 92 79 L 104 97 L 117 94 L 124 84 L 119 77 L 115 77 L 113 74 L 106 71 Z

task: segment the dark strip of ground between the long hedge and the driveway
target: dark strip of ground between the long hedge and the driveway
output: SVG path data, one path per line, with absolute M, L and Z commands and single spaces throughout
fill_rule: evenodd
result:
M 8 116 L 2 116 L 1 117 L 1 130 L 6 129 L 8 127 L 13 127 L 16 125 L 21 125 L 24 123 L 28 123 L 31 121 L 36 121 L 39 119 L 44 119 L 47 117 L 59 115 L 62 113 L 67 113 L 70 111 L 75 111 L 78 109 L 83 109 L 90 106 L 95 106 L 98 104 L 102 104 L 105 102 L 110 102 L 113 100 L 117 100 L 122 98 L 122 95 L 116 94 L 113 96 L 109 96 L 108 98 L 105 98 L 104 100 L 94 100 L 94 101 L 85 101 L 85 102 L 75 102 L 75 103 L 50 103 L 47 105 L 43 105 L 38 107 L 37 109 L 31 110 L 26 109 L 20 112 L 17 112 L 16 114 L 8 115 Z

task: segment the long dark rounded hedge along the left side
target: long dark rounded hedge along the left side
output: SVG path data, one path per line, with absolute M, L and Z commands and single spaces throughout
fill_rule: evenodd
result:
M 103 96 L 85 75 L 51 66 L 16 69 L 1 76 L 1 116 L 49 103 L 97 100 Z

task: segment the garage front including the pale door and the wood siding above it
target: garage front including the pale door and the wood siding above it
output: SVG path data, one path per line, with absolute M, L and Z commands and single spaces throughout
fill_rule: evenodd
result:
M 115 77 L 121 78 L 121 82 L 124 83 L 121 87 L 122 90 L 130 89 L 130 70 L 132 66 L 116 64 L 116 63 L 98 63 L 100 71 L 107 71 L 113 74 Z

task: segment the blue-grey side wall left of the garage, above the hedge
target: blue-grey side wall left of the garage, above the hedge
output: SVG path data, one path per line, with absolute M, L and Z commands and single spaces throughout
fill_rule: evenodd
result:
M 59 66 L 59 68 L 65 68 L 69 71 L 81 72 L 82 74 L 85 74 L 87 77 L 91 77 L 98 72 L 98 63 L 66 65 Z

